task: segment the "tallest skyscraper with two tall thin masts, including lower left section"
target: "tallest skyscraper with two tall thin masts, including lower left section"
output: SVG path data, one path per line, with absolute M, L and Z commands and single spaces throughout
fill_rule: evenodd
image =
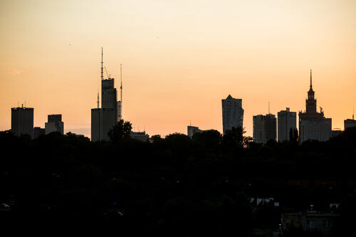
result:
M 120 75 L 122 75 L 120 65 Z M 122 80 L 120 85 L 120 101 L 117 101 L 117 90 L 114 87 L 114 78 L 104 79 L 103 74 L 103 48 L 101 49 L 101 108 L 91 110 L 91 140 L 108 140 L 110 128 L 122 119 Z

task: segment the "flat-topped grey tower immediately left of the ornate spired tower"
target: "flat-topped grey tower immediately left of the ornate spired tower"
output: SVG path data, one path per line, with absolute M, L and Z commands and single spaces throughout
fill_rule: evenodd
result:
M 278 142 L 289 141 L 290 130 L 297 128 L 297 112 L 286 110 L 278 112 Z

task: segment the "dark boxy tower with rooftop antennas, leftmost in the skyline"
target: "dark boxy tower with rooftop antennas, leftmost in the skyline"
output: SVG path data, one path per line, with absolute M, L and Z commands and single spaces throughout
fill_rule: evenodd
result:
M 29 135 L 33 138 L 33 107 L 11 108 L 11 132 L 16 136 Z

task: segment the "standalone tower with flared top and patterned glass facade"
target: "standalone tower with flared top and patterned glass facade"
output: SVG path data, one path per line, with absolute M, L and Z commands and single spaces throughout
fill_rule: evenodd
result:
M 243 128 L 244 109 L 242 108 L 242 99 L 235 99 L 229 95 L 225 100 L 221 100 L 223 117 L 223 135 L 226 130 L 232 127 Z

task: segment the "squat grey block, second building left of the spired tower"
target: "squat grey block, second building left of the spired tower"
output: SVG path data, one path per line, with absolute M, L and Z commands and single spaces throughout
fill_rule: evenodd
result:
M 253 116 L 253 142 L 265 143 L 269 139 L 276 140 L 276 115 Z

